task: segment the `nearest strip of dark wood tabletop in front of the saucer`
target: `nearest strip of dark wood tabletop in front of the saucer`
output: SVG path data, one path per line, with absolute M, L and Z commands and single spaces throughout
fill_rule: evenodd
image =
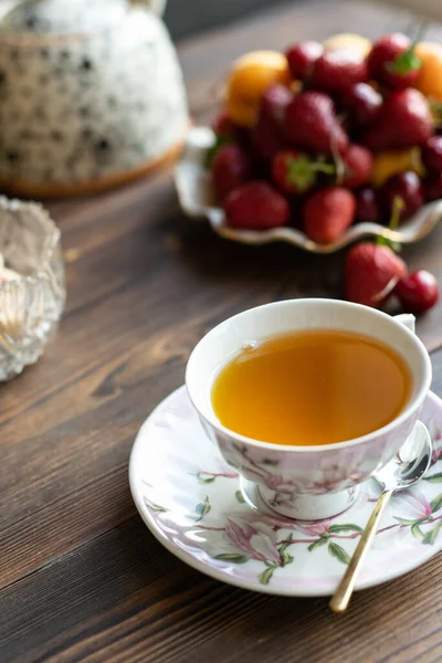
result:
M 135 517 L 0 593 L 1 660 L 435 663 L 440 564 L 356 593 L 349 612 L 336 617 L 323 598 L 270 597 L 211 580 Z

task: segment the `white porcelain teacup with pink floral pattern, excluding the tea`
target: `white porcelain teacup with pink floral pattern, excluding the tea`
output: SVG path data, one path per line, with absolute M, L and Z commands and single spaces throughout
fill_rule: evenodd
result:
M 391 317 L 358 304 L 292 299 L 235 315 L 207 334 L 193 349 L 186 385 L 202 427 L 225 462 L 257 485 L 264 502 L 284 516 L 318 519 L 349 507 L 358 484 L 383 467 L 410 434 L 431 383 L 430 357 L 413 334 L 412 316 Z M 245 343 L 306 329 L 364 334 L 385 343 L 407 361 L 412 392 L 406 408 L 367 435 L 322 446 L 287 446 L 252 440 L 218 420 L 211 403 L 214 378 Z

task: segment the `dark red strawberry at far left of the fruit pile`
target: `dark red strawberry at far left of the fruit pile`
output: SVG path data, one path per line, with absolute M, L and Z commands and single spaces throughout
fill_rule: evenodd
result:
M 250 159 L 238 145 L 220 147 L 212 161 L 212 181 L 217 194 L 224 198 L 250 178 Z

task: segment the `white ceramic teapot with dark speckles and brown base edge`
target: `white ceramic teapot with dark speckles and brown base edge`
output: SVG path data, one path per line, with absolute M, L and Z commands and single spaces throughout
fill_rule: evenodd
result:
M 2 0 L 0 187 L 117 186 L 176 155 L 186 91 L 166 0 Z

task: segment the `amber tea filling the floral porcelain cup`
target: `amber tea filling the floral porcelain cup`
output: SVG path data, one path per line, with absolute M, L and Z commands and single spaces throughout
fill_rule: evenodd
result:
M 344 442 L 392 421 L 411 393 L 407 362 L 359 334 L 314 330 L 250 344 L 224 366 L 212 407 L 228 429 L 275 444 Z

